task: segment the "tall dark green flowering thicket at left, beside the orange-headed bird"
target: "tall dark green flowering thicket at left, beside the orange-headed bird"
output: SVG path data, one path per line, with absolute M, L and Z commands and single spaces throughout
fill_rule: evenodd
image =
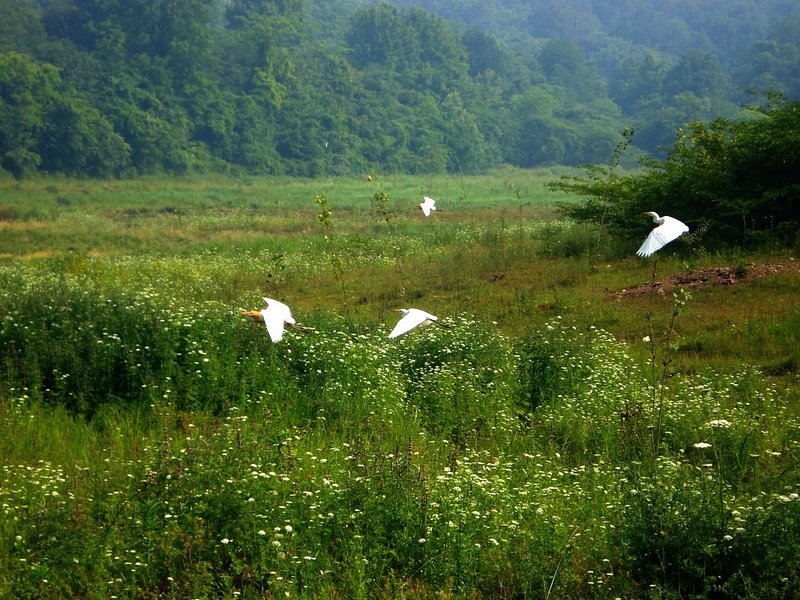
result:
M 66 280 L 7 283 L 14 292 L 2 297 L 6 385 L 75 413 L 163 399 L 219 411 L 260 391 L 287 393 L 263 332 L 218 305 L 168 307 L 147 292 L 106 295 Z

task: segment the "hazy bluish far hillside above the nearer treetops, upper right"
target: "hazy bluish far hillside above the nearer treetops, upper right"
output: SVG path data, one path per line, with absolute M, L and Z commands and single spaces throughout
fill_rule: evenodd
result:
M 745 58 L 752 44 L 781 38 L 792 9 L 797 18 L 796 4 L 786 0 L 396 0 L 393 4 L 423 8 L 509 44 L 528 37 L 566 38 L 608 59 L 614 50 L 655 51 L 677 59 L 694 48 L 713 53 L 726 68 Z

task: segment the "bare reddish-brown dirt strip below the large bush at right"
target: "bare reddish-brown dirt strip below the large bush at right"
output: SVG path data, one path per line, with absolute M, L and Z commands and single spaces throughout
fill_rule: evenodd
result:
M 690 273 L 676 273 L 661 281 L 643 283 L 632 288 L 610 292 L 612 298 L 625 296 L 641 296 L 653 292 L 664 294 L 675 289 L 697 288 L 702 286 L 727 286 L 742 281 L 775 275 L 778 273 L 796 273 L 800 271 L 800 261 L 777 265 L 744 265 L 740 267 L 710 267 L 698 269 Z

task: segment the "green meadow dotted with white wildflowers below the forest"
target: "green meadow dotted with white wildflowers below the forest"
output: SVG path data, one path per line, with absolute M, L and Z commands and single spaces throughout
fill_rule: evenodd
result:
M 796 253 L 565 173 L 0 180 L 0 596 L 800 595 Z

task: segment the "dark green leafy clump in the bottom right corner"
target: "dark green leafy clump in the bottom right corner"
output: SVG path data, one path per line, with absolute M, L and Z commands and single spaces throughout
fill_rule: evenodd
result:
M 666 597 L 785 598 L 796 593 L 794 497 L 763 496 L 745 506 L 731 501 L 712 463 L 686 466 L 665 460 L 659 470 L 659 484 L 643 479 L 632 490 L 629 520 L 621 531 L 642 588 L 649 583 Z M 670 484 L 664 485 L 665 480 Z M 775 529 L 776 519 L 783 523 L 782 532 Z M 769 542 L 756 541 L 764 539 Z M 779 561 L 776 553 L 782 555 Z M 783 567 L 773 570 L 778 562 Z M 753 578 L 759 565 L 764 570 Z

